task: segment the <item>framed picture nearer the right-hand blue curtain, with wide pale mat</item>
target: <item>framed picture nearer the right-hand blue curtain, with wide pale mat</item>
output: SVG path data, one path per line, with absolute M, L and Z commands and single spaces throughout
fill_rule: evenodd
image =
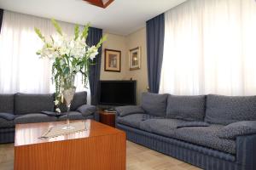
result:
M 141 68 L 141 48 L 140 47 L 130 49 L 129 65 L 130 65 L 130 71 L 134 71 Z

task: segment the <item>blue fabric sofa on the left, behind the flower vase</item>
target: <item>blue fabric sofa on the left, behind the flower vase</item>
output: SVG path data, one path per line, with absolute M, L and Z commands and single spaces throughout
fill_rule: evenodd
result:
M 15 141 L 15 124 L 67 120 L 67 114 L 55 116 L 54 94 L 0 94 L 0 144 Z M 73 97 L 70 120 L 96 119 L 96 107 L 86 105 L 87 93 Z M 62 111 L 67 111 L 63 105 Z

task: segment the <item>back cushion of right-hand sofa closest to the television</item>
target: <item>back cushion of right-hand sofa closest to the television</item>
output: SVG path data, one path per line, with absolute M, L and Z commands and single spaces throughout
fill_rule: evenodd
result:
M 142 108 L 147 114 L 153 116 L 166 116 L 168 94 L 143 93 Z

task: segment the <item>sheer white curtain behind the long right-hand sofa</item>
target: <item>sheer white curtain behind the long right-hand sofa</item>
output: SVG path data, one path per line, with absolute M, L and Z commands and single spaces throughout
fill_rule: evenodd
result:
M 160 93 L 256 94 L 254 0 L 189 0 L 165 26 Z

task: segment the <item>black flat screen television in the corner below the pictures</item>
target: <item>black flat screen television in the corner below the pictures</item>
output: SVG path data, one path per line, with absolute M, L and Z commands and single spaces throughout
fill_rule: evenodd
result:
M 99 105 L 136 105 L 136 81 L 101 81 Z

